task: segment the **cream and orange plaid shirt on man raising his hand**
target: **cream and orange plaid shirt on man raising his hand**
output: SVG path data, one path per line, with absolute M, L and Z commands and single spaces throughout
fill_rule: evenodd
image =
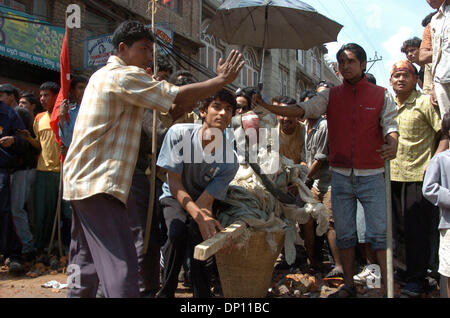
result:
M 64 162 L 65 200 L 106 193 L 126 204 L 144 108 L 167 112 L 178 87 L 112 55 L 86 87 Z

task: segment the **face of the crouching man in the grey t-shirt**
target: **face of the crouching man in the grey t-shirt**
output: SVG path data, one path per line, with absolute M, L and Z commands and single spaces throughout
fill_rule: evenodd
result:
M 233 117 L 233 106 L 228 102 L 216 98 L 208 105 L 208 111 L 200 110 L 204 123 L 208 128 L 218 128 L 224 131 Z

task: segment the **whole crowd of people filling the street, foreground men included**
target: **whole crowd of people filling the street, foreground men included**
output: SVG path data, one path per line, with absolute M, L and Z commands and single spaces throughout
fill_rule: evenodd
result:
M 21 274 L 25 261 L 52 252 L 60 196 L 57 227 L 81 278 L 68 297 L 170 298 L 180 279 L 194 297 L 211 297 L 214 260 L 198 261 L 193 252 L 223 230 L 220 202 L 240 163 L 226 128 L 264 107 L 276 115 L 280 155 L 308 168 L 304 182 L 329 214 L 324 236 L 312 218 L 298 231 L 309 272 L 323 269 L 324 245 L 329 250 L 326 277 L 344 282 L 330 297 L 355 297 L 355 282 L 374 268 L 387 285 L 386 161 L 395 280 L 405 295 L 425 294 L 427 277 L 450 277 L 450 48 L 443 38 L 450 4 L 427 2 L 437 11 L 424 19 L 422 40 L 399 44 L 405 60 L 391 69 L 395 96 L 366 73 L 366 52 L 355 43 L 336 54 L 342 84 L 321 81 L 298 101 L 274 96 L 268 103 L 257 87 L 225 89 L 244 65 L 235 50 L 203 82 L 173 73 L 164 58 L 154 72 L 154 37 L 136 21 L 116 29 L 106 66 L 89 79 L 72 77 L 56 133 L 50 122 L 58 84 L 43 83 L 39 99 L 1 84 L 0 254 L 9 271 Z M 158 167 L 145 248 L 152 138 Z M 217 154 L 223 160 L 212 160 Z M 295 187 L 288 192 L 298 195 Z M 450 282 L 440 287 L 450 291 Z

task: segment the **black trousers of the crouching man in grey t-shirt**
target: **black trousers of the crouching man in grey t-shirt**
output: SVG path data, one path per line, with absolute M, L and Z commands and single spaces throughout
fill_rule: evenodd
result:
M 195 298 L 209 298 L 211 294 L 210 266 L 206 261 L 198 261 L 193 258 L 194 248 L 203 242 L 197 223 L 181 207 L 174 197 L 161 200 L 164 220 L 167 226 L 167 240 L 162 247 L 165 261 L 163 284 L 159 298 L 173 298 L 178 286 L 178 274 L 185 256 L 191 260 L 192 292 Z

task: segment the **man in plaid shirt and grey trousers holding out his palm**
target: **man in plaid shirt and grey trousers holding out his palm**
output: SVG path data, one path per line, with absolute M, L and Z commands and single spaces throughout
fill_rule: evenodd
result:
M 86 87 L 64 164 L 64 199 L 72 204 L 68 297 L 95 297 L 98 283 L 106 297 L 139 297 L 138 264 L 127 209 L 136 166 L 144 109 L 169 112 L 173 119 L 195 102 L 230 84 L 244 62 L 231 51 L 219 61 L 217 76 L 177 87 L 145 72 L 154 37 L 137 21 L 115 30 L 115 54 Z M 76 277 L 75 277 L 76 278 Z

